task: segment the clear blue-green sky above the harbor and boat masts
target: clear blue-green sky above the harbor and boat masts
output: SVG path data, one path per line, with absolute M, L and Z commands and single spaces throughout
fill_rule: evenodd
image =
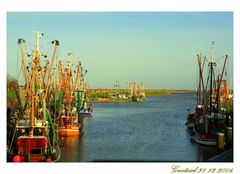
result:
M 116 81 L 127 88 L 135 81 L 146 89 L 196 89 L 196 55 L 210 58 L 212 41 L 219 68 L 229 56 L 233 83 L 232 12 L 8 12 L 7 73 L 22 83 L 17 40 L 24 38 L 30 50 L 33 30 L 44 33 L 48 57 L 57 39 L 57 60 L 70 50 L 73 62 L 82 62 L 90 88 L 113 88 Z

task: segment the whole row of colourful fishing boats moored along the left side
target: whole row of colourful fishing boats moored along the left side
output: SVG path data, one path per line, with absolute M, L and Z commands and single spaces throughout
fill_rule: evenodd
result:
M 55 63 L 58 40 L 52 42 L 51 61 L 43 60 L 48 56 L 40 48 L 41 37 L 43 34 L 36 32 L 36 46 L 30 52 L 24 50 L 25 40 L 18 40 L 25 85 L 16 88 L 16 112 L 8 125 L 9 162 L 58 161 L 61 158 L 59 137 L 78 136 L 83 132 L 82 118 L 86 115 L 81 113 L 86 107 L 87 88 L 82 65 L 79 62 L 73 70 L 69 57 L 66 67 L 61 61 Z M 58 75 L 54 65 L 58 65 Z M 92 108 L 88 111 L 91 116 Z

